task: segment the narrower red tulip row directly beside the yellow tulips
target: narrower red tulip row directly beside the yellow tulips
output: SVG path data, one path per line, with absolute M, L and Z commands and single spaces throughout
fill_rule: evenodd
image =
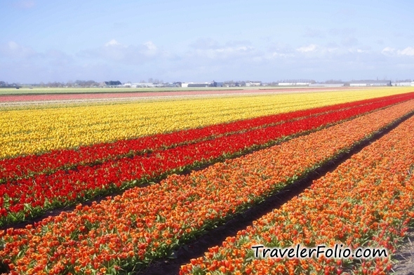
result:
M 12 159 L 0 160 L 0 182 L 7 180 L 30 177 L 42 173 L 53 173 L 60 169 L 76 168 L 80 165 L 94 165 L 109 160 L 132 157 L 153 150 L 166 149 L 201 140 L 214 139 L 221 135 L 238 133 L 253 128 L 263 128 L 275 123 L 283 123 L 293 119 L 303 119 L 308 116 L 323 114 L 326 112 L 337 112 L 349 107 L 370 105 L 378 102 L 386 102 L 391 105 L 403 102 L 414 97 L 414 93 L 403 95 L 391 95 L 370 100 L 349 102 L 328 107 L 307 109 L 286 114 L 246 119 L 231 123 L 222 123 L 203 128 L 180 130 L 173 133 L 151 135 L 134 140 L 119 140 L 112 143 L 101 143 L 97 145 L 79 147 L 78 149 L 60 149 L 40 155 L 18 156 Z

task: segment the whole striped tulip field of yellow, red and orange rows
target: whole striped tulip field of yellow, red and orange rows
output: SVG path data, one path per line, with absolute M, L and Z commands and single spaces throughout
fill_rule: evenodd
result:
M 0 274 L 142 274 L 366 140 L 176 273 L 389 274 L 414 222 L 413 114 L 394 87 L 4 107 Z M 391 255 L 258 259 L 259 243 Z

